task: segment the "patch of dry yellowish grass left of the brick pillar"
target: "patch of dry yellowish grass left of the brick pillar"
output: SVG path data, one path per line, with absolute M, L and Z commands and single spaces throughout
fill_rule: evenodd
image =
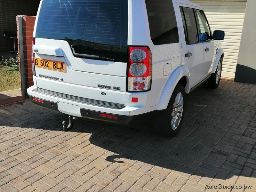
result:
M 20 88 L 19 71 L 6 71 L 6 69 L 14 70 L 16 67 L 0 65 L 0 92 Z

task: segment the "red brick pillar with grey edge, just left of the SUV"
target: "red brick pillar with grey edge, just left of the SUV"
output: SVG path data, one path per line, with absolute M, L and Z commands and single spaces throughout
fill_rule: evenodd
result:
M 31 63 L 31 50 L 32 50 L 32 39 L 33 39 L 33 30 L 35 25 L 35 16 L 21 16 L 16 17 L 17 20 L 17 34 L 19 42 L 19 32 L 18 32 L 18 17 L 22 17 L 22 33 L 23 33 L 23 55 L 24 55 L 24 68 L 25 68 L 25 88 L 34 85 L 33 83 L 33 74 L 32 74 L 32 63 Z M 19 62 L 20 62 L 20 46 L 18 45 L 19 50 Z

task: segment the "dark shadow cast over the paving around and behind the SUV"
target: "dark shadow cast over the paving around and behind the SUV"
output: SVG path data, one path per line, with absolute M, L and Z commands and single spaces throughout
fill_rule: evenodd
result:
M 79 119 L 70 132 L 91 133 L 90 143 L 114 153 L 107 161 L 138 165 L 139 171 L 159 166 L 166 171 L 209 178 L 256 178 L 255 93 L 256 85 L 231 81 L 221 81 L 216 90 L 200 86 L 188 95 L 186 117 L 173 138 L 158 136 L 150 128 L 134 130 L 85 119 Z M 15 115 L 21 112 L 25 114 Z M 0 128 L 62 130 L 61 122 L 67 119 L 67 115 L 29 102 L 18 108 L 0 108 L 0 114 Z M 138 162 L 149 166 L 140 167 Z M 154 172 L 148 174 L 160 177 Z

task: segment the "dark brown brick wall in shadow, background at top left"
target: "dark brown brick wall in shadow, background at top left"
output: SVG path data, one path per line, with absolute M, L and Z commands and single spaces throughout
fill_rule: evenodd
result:
M 13 51 L 13 39 L 4 33 L 16 34 L 16 15 L 36 16 L 40 0 L 0 0 L 0 52 Z M 17 39 L 15 39 L 17 48 Z

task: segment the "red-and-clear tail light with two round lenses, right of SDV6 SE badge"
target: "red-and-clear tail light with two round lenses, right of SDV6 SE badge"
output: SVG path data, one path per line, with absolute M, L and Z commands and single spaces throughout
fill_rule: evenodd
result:
M 152 54 L 148 47 L 129 47 L 128 89 L 138 92 L 151 89 Z

